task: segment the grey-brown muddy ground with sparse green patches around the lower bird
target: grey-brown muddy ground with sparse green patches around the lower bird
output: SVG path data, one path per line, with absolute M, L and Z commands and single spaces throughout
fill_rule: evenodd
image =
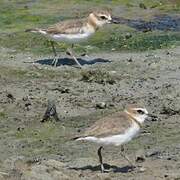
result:
M 180 47 L 90 54 L 82 70 L 65 57 L 55 68 L 51 57 L 0 49 L 0 179 L 180 179 Z M 59 122 L 41 122 L 48 99 Z M 144 104 L 158 121 L 126 146 L 140 159 L 135 169 L 120 148 L 107 147 L 112 171 L 102 174 L 98 146 L 70 138 L 129 103 Z

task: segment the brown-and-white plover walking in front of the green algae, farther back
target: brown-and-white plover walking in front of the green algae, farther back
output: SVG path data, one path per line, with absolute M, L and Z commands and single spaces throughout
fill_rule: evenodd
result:
M 26 32 L 40 33 L 48 38 L 51 42 L 52 50 L 54 53 L 54 59 L 52 65 L 56 66 L 58 57 L 54 42 L 65 42 L 73 44 L 82 42 L 91 37 L 100 27 L 104 24 L 117 23 L 117 20 L 113 20 L 111 13 L 107 10 L 98 10 L 89 14 L 85 19 L 67 20 L 54 24 L 48 28 L 35 28 L 27 29 Z M 72 51 L 68 48 L 67 53 L 74 59 L 74 61 L 81 68 L 81 64 L 78 62 Z

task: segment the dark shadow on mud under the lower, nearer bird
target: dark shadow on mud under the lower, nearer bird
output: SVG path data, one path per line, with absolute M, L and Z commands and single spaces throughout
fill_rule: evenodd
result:
M 135 169 L 135 167 L 133 167 L 133 166 L 118 167 L 118 166 L 109 165 L 109 164 L 104 164 L 104 168 L 106 170 L 108 170 L 110 172 L 114 172 L 114 173 L 128 173 L 128 172 L 132 172 Z M 76 171 L 86 171 L 86 170 L 90 170 L 93 172 L 101 171 L 100 165 L 98 165 L 98 166 L 88 165 L 88 166 L 78 167 L 78 168 L 70 167 L 69 169 L 76 170 Z

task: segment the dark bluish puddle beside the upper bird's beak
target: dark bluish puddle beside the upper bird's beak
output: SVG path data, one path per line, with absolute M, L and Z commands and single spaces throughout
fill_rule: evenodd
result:
M 153 30 L 180 31 L 180 16 L 159 15 L 155 16 L 151 21 L 117 18 L 117 21 L 120 24 L 126 24 L 143 32 Z

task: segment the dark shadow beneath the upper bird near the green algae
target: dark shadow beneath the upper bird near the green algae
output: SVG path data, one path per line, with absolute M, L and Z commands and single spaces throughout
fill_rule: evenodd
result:
M 78 58 L 77 60 L 82 66 L 93 65 L 96 63 L 109 63 L 109 62 L 111 62 L 108 59 L 102 59 L 102 58 L 95 58 L 92 60 L 84 60 L 82 58 Z M 38 63 L 41 65 L 52 65 L 52 62 L 53 62 L 53 59 L 49 58 L 49 59 L 40 59 L 40 60 L 35 61 L 34 63 Z M 62 65 L 72 66 L 72 65 L 76 65 L 76 63 L 73 59 L 70 59 L 70 58 L 59 58 L 58 62 L 57 62 L 57 66 L 62 66 Z

